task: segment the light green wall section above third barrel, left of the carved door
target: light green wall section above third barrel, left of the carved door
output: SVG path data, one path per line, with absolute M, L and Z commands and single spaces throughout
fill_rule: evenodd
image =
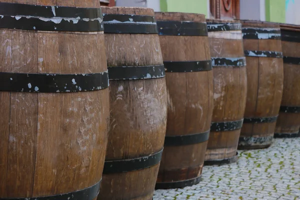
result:
M 160 0 L 163 12 L 190 12 L 207 15 L 207 0 Z

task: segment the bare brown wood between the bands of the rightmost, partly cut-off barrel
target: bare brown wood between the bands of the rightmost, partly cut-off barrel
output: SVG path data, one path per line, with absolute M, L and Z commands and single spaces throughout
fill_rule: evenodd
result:
M 280 24 L 281 30 L 291 30 L 295 33 L 300 31 L 300 26 L 291 24 Z M 300 43 L 292 41 L 281 41 L 283 56 L 300 57 Z M 300 106 L 300 68 L 298 64 L 283 63 L 283 93 L 281 105 Z M 300 113 L 279 112 L 276 123 L 276 133 L 294 133 L 300 127 Z

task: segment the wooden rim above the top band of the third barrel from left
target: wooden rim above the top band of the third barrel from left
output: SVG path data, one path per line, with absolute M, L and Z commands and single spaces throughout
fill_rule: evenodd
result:
M 184 12 L 155 12 L 156 20 L 205 22 L 204 14 Z

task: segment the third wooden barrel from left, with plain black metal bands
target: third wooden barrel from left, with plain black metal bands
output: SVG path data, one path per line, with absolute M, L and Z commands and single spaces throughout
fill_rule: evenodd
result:
M 212 114 L 213 77 L 203 14 L 157 12 L 167 126 L 156 188 L 198 183 Z

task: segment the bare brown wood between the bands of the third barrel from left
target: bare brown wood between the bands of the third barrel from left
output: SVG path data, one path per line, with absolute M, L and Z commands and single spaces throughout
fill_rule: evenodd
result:
M 157 12 L 156 20 L 205 22 L 201 14 Z M 207 36 L 159 36 L 164 61 L 209 60 Z M 166 135 L 205 132 L 212 114 L 212 70 L 167 72 Z M 207 141 L 182 146 L 165 146 L 157 182 L 181 181 L 202 172 Z

